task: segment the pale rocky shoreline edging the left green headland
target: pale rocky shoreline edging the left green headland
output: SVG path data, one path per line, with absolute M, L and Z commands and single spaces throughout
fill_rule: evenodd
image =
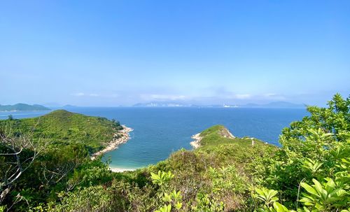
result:
M 116 148 L 118 148 L 120 144 L 126 143 L 127 141 L 129 141 L 130 132 L 132 132 L 134 129 L 127 127 L 125 125 L 122 125 L 122 126 L 123 126 L 123 129 L 113 135 L 113 139 L 111 143 L 109 143 L 109 145 L 106 146 L 106 148 L 104 148 L 103 150 L 99 150 L 97 153 L 94 153 L 91 155 L 90 157 L 91 160 L 95 160 L 97 156 L 107 153 L 111 150 L 115 150 Z

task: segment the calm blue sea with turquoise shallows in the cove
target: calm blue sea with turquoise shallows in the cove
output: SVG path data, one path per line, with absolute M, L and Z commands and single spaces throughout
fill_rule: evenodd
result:
M 69 111 L 119 120 L 132 127 L 131 139 L 118 149 L 106 153 L 111 167 L 139 168 L 165 160 L 181 148 L 191 149 L 193 134 L 212 125 L 225 125 L 235 136 L 252 136 L 279 145 L 281 129 L 301 120 L 304 109 L 267 108 L 97 108 L 76 107 Z M 48 112 L 0 112 L 0 119 L 9 114 L 29 118 Z

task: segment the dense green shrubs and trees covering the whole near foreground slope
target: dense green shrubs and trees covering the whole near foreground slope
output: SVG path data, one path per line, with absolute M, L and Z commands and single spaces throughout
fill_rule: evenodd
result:
M 40 157 L 48 155 L 43 151 L 0 201 L 5 211 L 346 212 L 349 108 L 350 99 L 339 94 L 328 108 L 308 107 L 309 116 L 283 129 L 281 148 L 257 139 L 253 146 L 249 138 L 232 139 L 217 125 L 200 134 L 200 148 L 179 150 L 158 164 L 125 173 L 91 162 L 84 148 L 70 142 L 58 161 L 80 162 L 62 180 L 45 184 L 31 177 L 45 171 Z M 37 148 L 25 148 L 26 154 Z M 4 147 L 0 150 L 4 153 Z M 10 159 L 0 155 L 0 160 Z

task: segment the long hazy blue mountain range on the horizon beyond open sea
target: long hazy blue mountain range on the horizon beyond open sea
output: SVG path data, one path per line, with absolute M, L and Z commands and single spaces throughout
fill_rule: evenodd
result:
M 134 107 L 201 107 L 201 108 L 305 108 L 304 104 L 293 104 L 286 101 L 273 101 L 268 104 L 241 104 L 241 105 L 194 105 L 176 102 L 149 102 L 135 104 Z

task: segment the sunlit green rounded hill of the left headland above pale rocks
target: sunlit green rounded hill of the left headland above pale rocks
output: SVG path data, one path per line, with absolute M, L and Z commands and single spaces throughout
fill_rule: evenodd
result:
M 122 129 L 118 122 L 106 118 L 64 110 L 52 111 L 38 118 L 0 120 L 2 129 L 9 129 L 10 126 L 17 136 L 32 132 L 34 139 L 48 140 L 56 146 L 81 143 L 90 153 L 104 148 L 112 140 L 113 134 Z

